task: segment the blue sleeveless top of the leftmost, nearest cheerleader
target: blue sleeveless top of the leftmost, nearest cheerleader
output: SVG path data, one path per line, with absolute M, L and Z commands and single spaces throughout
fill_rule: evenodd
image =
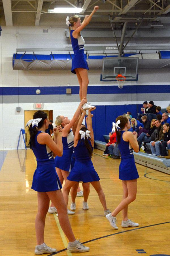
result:
M 33 152 L 37 158 L 38 165 L 44 165 L 49 163 L 54 163 L 53 152 L 46 144 L 39 144 L 37 141 L 37 136 L 43 131 L 38 131 L 35 136 L 35 147 L 33 147 Z

